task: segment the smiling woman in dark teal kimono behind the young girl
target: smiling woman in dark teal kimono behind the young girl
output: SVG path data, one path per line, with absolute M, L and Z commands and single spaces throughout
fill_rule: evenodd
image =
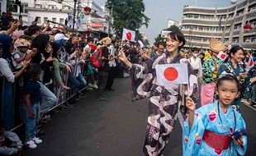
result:
M 239 63 L 241 63 L 244 59 L 244 49 L 239 47 L 238 45 L 234 46 L 230 49 L 230 61 L 221 64 L 220 69 L 218 71 L 218 76 L 225 73 L 230 73 L 235 76 L 239 80 L 239 84 L 241 86 L 241 96 L 244 95 L 245 89 L 252 83 L 254 83 L 254 79 L 250 79 L 248 76 L 248 71 Z M 233 107 L 239 111 L 239 98 L 235 99 L 232 103 Z

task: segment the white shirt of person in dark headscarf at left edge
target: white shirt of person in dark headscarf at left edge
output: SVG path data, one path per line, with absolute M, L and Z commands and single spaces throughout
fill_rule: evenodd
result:
M 14 75 L 7 60 L 0 58 L 0 72 L 2 76 L 5 76 L 9 82 L 14 83 Z

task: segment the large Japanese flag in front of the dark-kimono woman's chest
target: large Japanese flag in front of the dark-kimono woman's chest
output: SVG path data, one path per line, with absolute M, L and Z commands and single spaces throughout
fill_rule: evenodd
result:
M 187 84 L 187 63 L 173 63 L 156 65 L 156 84 L 170 86 L 173 84 Z

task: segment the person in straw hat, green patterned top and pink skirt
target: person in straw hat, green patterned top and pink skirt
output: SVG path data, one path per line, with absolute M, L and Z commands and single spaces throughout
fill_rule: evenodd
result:
M 217 71 L 222 61 L 217 57 L 220 51 L 225 52 L 227 49 L 224 44 L 217 39 L 211 39 L 209 44 L 211 57 L 202 65 L 202 85 L 201 85 L 201 105 L 213 103 L 214 90 L 216 87 Z

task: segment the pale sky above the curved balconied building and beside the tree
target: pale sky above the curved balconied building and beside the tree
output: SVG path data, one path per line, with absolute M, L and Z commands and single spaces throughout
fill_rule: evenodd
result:
M 106 0 L 94 0 L 100 6 L 104 5 Z M 238 0 L 242 2 L 243 0 Z M 230 0 L 144 0 L 145 15 L 150 18 L 149 27 L 140 28 L 140 31 L 145 33 L 149 43 L 154 43 L 154 38 L 167 28 L 168 19 L 182 21 L 183 7 L 196 6 L 197 7 L 229 7 L 232 4 Z

